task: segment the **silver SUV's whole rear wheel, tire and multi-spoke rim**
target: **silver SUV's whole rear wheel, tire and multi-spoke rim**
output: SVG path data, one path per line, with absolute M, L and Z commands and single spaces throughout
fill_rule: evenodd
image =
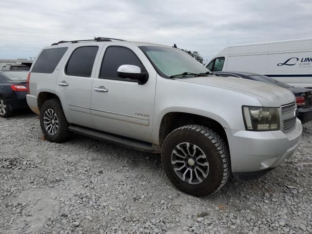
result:
M 59 143 L 70 137 L 69 124 L 59 100 L 50 99 L 43 103 L 40 109 L 40 126 L 44 137 L 49 141 Z

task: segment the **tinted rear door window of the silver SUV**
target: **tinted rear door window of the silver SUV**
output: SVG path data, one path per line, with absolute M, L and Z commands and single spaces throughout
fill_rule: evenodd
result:
M 82 46 L 74 50 L 65 67 L 68 76 L 91 77 L 98 46 Z

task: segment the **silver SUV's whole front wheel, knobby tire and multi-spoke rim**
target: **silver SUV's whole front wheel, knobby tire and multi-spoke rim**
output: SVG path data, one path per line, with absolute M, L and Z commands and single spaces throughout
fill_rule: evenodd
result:
M 162 145 L 161 162 L 171 182 L 195 196 L 216 193 L 230 175 L 226 142 L 201 125 L 186 125 L 171 132 Z

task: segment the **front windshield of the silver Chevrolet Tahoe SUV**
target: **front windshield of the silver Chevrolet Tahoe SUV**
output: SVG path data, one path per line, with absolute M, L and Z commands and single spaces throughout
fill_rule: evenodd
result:
M 160 46 L 140 46 L 140 49 L 153 63 L 159 75 L 165 78 L 183 73 L 209 72 L 196 59 L 180 49 Z

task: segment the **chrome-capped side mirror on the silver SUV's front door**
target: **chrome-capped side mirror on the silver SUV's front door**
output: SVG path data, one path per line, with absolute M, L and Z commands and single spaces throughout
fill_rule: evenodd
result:
M 138 84 L 145 84 L 148 80 L 148 73 L 141 72 L 141 68 L 135 65 L 121 65 L 117 69 L 120 78 L 137 79 Z

